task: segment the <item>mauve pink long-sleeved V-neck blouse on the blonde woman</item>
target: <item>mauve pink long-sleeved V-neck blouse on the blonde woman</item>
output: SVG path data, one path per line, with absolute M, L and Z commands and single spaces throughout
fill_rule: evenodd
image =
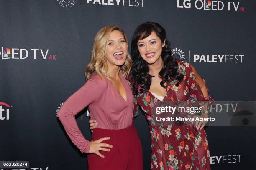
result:
M 88 105 L 90 117 L 98 122 L 97 128 L 123 129 L 132 124 L 134 96 L 125 78 L 122 75 L 120 77 L 127 101 L 119 95 L 108 79 L 101 78 L 94 72 L 90 79 L 64 102 L 57 113 L 69 138 L 81 152 L 88 153 L 90 143 L 77 126 L 75 115 Z

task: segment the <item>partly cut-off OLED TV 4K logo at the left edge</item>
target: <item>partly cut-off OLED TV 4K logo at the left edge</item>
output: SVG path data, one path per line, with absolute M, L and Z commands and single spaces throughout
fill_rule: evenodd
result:
M 32 54 L 31 54 L 32 53 Z M 39 54 L 38 54 L 39 53 Z M 56 60 L 56 55 L 48 54 L 49 49 L 42 50 L 42 49 L 31 49 L 26 50 L 24 48 L 3 48 L 1 47 L 0 56 L 1 60 L 5 59 L 27 59 L 28 55 L 33 55 L 34 60 L 38 59 L 38 55 L 40 58 L 44 60 Z

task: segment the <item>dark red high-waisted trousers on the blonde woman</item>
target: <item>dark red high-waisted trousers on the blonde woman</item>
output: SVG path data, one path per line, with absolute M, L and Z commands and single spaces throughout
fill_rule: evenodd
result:
M 100 151 L 105 158 L 89 154 L 87 157 L 89 170 L 143 170 L 141 141 L 133 123 L 124 129 L 93 130 L 92 140 L 103 137 L 110 137 L 110 140 L 104 140 L 102 143 L 113 145 L 113 148 L 110 148 L 110 152 Z

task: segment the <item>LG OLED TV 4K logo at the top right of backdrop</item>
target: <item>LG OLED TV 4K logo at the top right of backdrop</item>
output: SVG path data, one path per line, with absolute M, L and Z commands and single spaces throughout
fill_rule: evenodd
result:
M 217 0 L 195 0 L 191 3 L 191 0 L 177 0 L 177 8 L 191 8 L 191 4 L 197 10 L 223 10 L 224 8 L 228 11 L 245 11 L 245 7 L 239 7 L 240 2 L 231 1 L 217 1 Z

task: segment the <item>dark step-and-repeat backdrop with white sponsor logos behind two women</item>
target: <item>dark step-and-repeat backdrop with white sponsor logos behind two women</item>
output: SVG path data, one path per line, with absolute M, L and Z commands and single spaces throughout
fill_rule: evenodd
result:
M 20 170 L 87 170 L 87 154 L 56 113 L 84 84 L 94 36 L 107 25 L 131 40 L 139 24 L 160 23 L 173 55 L 197 69 L 215 100 L 256 100 L 255 16 L 255 0 L 1 0 L 0 161 L 29 161 Z M 76 117 L 90 140 L 88 112 Z M 149 170 L 143 114 L 135 125 Z M 256 169 L 255 127 L 206 131 L 212 170 Z

